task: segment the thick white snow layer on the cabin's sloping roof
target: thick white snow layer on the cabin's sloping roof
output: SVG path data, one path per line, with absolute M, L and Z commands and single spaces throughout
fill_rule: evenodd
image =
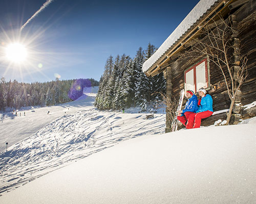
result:
M 218 0 L 201 0 L 163 42 L 156 53 L 144 62 L 143 72 L 146 72 L 216 2 Z

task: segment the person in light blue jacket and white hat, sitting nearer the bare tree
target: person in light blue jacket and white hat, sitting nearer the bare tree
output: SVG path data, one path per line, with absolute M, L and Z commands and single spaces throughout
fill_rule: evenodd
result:
M 212 109 L 212 97 L 209 94 L 206 94 L 205 89 L 199 89 L 198 91 L 199 96 L 202 97 L 201 100 L 198 101 L 198 110 L 196 113 L 189 115 L 190 120 L 194 119 L 194 125 L 190 128 L 198 128 L 201 125 L 201 120 L 203 118 L 210 117 L 214 110 Z M 187 127 L 189 129 L 189 127 Z

